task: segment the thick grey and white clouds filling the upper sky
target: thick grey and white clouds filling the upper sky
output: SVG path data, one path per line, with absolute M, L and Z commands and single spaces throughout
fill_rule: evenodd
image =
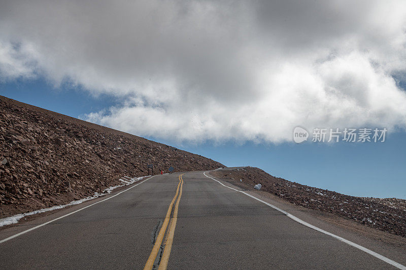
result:
M 405 69 L 404 1 L 0 3 L 0 84 L 104 98 L 71 114 L 160 141 L 404 132 Z

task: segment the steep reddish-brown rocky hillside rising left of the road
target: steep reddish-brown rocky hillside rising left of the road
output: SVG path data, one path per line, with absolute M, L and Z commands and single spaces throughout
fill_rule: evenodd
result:
M 224 167 L 205 157 L 0 96 L 0 218 L 103 192 L 124 176 Z

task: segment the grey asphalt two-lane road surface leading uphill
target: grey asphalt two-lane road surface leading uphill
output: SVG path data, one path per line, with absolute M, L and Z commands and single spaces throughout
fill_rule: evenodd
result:
M 155 176 L 1 243 L 0 268 L 143 269 L 161 230 L 155 268 L 164 267 L 165 249 L 168 269 L 394 268 L 203 172 L 179 176 Z M 167 213 L 172 218 L 163 230 Z

